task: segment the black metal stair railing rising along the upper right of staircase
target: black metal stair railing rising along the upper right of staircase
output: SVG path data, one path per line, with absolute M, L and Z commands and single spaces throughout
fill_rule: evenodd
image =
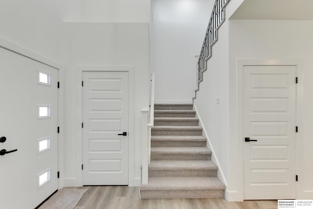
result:
M 207 60 L 212 56 L 212 46 L 218 40 L 218 30 L 225 21 L 225 7 L 229 1 L 215 0 L 197 63 L 197 89 L 195 90 L 195 97 L 192 100 L 197 98 L 199 84 L 203 80 L 203 72 L 207 70 Z

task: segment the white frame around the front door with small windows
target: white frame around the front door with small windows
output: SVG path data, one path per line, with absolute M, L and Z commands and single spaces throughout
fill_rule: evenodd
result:
M 58 170 L 60 171 L 58 189 L 61 189 L 64 187 L 64 67 L 55 61 L 1 37 L 0 47 L 58 70 L 58 80 L 60 82 L 60 89 L 58 89 L 58 126 L 60 127 L 60 133 L 58 134 Z

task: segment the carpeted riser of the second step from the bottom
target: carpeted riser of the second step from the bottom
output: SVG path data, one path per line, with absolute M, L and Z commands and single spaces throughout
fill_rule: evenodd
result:
M 216 177 L 217 170 L 150 170 L 150 177 Z

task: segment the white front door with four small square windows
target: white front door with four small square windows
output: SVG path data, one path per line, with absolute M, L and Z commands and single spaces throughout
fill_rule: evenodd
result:
M 58 189 L 57 82 L 58 70 L 0 48 L 0 150 L 17 149 L 0 155 L 1 209 L 35 208 Z

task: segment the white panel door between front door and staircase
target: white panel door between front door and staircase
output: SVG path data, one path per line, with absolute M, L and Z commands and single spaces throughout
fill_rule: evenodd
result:
M 128 72 L 83 80 L 83 184 L 128 185 Z

